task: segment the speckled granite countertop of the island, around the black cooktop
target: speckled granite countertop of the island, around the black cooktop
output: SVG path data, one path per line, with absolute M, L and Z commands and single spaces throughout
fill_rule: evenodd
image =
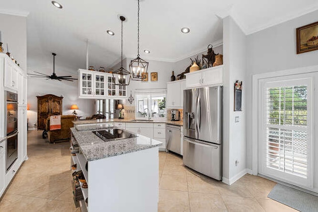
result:
M 113 157 L 162 145 L 162 142 L 141 135 L 138 135 L 137 138 L 103 141 L 92 133 L 93 130 L 77 131 L 75 128 L 71 128 L 71 131 L 87 161 Z

